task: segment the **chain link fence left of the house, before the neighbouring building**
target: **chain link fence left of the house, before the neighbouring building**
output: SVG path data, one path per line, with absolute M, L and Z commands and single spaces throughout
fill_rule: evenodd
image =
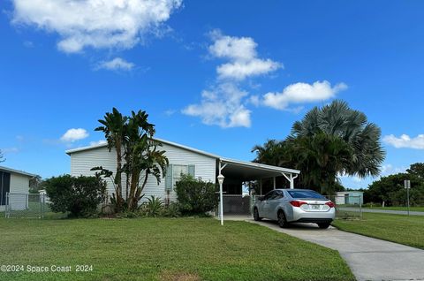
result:
M 4 216 L 6 218 L 43 218 L 49 212 L 46 194 L 6 194 Z

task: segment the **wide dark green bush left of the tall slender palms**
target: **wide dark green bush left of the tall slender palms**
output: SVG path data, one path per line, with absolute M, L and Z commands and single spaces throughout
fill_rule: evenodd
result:
M 45 189 L 54 212 L 70 212 L 70 216 L 93 216 L 106 197 L 106 181 L 99 176 L 78 178 L 70 175 L 48 178 Z

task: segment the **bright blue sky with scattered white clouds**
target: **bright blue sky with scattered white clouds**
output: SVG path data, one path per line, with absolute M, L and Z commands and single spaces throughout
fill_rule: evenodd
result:
M 156 137 L 250 161 L 334 99 L 382 129 L 382 175 L 424 162 L 424 2 L 4 0 L 0 149 L 70 172 L 113 107 Z M 290 167 L 289 167 L 290 168 Z M 344 177 L 360 188 L 375 178 Z

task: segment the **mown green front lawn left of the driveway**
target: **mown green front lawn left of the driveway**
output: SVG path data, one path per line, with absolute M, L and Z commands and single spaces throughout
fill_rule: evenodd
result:
M 0 219 L 0 264 L 93 266 L 0 280 L 354 280 L 337 251 L 213 218 Z

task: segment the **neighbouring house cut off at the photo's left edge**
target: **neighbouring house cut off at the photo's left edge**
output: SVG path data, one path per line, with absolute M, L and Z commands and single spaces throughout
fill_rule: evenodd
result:
M 0 210 L 4 210 L 8 193 L 16 194 L 10 201 L 15 209 L 25 209 L 28 203 L 29 180 L 34 177 L 34 174 L 26 171 L 0 166 Z

